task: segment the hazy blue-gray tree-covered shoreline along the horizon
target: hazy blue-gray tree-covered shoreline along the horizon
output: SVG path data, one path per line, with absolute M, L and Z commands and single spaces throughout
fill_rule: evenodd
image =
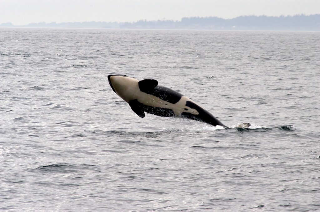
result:
M 294 16 L 189 17 L 180 21 L 140 20 L 137 22 L 63 22 L 13 25 L 2 23 L 1 28 L 48 29 L 149 29 L 149 30 L 219 30 L 219 31 L 320 31 L 320 14 Z

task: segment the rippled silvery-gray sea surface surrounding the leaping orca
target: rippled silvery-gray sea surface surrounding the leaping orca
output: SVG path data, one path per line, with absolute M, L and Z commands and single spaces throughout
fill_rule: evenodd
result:
M 140 118 L 114 73 L 231 128 Z M 316 32 L 1 28 L 0 210 L 320 211 L 319 82 Z

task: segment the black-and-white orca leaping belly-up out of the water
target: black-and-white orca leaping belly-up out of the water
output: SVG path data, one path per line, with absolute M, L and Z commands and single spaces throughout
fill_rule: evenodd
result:
M 129 103 L 133 112 L 141 118 L 145 117 L 147 112 L 163 117 L 188 118 L 228 128 L 196 102 L 177 91 L 158 85 L 155 79 L 138 80 L 126 75 L 109 75 L 108 81 L 112 90 Z

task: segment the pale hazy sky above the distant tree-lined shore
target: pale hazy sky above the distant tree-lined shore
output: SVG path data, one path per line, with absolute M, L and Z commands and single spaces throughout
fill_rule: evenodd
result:
M 0 0 L 0 23 L 14 25 L 319 13 L 320 0 Z

